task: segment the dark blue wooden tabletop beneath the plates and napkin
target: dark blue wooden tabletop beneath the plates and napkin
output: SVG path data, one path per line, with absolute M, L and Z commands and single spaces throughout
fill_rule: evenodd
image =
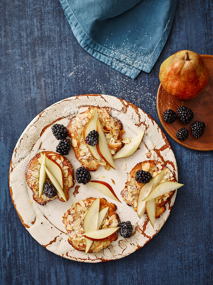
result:
M 161 126 L 156 110 L 160 64 L 183 49 L 213 54 L 212 0 L 178 1 L 157 63 L 135 81 L 80 47 L 59 1 L 5 0 L 0 7 L 0 283 L 213 284 L 213 152 L 184 148 L 166 134 L 185 186 L 158 235 L 111 262 L 85 264 L 47 251 L 21 224 L 8 187 L 9 162 L 22 131 L 43 109 L 66 97 L 117 96 L 138 105 Z

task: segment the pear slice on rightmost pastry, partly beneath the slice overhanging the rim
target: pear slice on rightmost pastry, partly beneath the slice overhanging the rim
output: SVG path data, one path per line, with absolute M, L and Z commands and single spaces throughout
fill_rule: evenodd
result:
M 137 214 L 138 217 L 141 219 L 143 214 L 145 213 L 146 210 L 146 203 L 143 201 L 156 186 L 160 183 L 160 181 L 164 178 L 164 175 L 169 169 L 166 168 L 162 170 L 160 173 L 158 173 L 154 178 L 152 178 L 148 183 L 144 184 L 140 188 L 140 192 L 138 195 L 138 203 L 137 203 Z M 169 170 L 170 171 L 170 170 Z M 138 207 L 139 205 L 139 207 Z M 139 209 L 138 209 L 139 208 Z

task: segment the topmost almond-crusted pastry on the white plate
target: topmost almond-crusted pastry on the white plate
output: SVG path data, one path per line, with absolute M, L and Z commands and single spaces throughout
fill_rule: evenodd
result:
M 72 139 L 72 146 L 75 151 L 75 156 L 82 166 L 88 168 L 90 171 L 98 169 L 99 165 L 104 165 L 109 170 L 109 166 L 100 157 L 97 160 L 87 147 L 84 141 L 83 130 L 95 108 L 90 107 L 87 111 L 76 114 L 69 122 L 67 131 L 69 137 Z M 106 135 L 107 143 L 110 148 L 112 156 L 118 152 L 122 147 L 122 135 L 124 133 L 123 125 L 117 118 L 111 117 L 107 109 L 102 108 L 98 110 L 98 118 L 103 126 L 103 131 Z M 92 130 L 91 130 L 92 131 Z

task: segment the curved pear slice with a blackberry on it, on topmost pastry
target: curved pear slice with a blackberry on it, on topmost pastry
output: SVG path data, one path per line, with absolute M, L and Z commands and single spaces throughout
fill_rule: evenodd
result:
M 97 128 L 97 120 L 98 120 L 98 110 L 97 108 L 94 109 L 92 113 L 92 117 L 87 122 L 86 126 L 83 129 L 83 138 L 84 142 L 86 140 L 86 137 L 90 131 L 96 130 Z M 86 143 L 86 142 L 85 142 Z M 100 155 L 98 154 L 96 146 L 91 146 L 86 143 L 87 148 L 89 149 L 90 153 L 96 158 L 97 160 L 102 160 Z

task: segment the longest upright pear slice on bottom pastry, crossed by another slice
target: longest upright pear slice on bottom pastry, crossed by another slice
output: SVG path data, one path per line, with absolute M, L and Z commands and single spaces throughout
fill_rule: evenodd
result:
M 89 207 L 88 211 L 86 212 L 86 215 L 84 217 L 84 232 L 86 231 L 96 231 L 98 227 L 98 216 L 99 216 L 99 205 L 100 205 L 100 198 L 96 199 L 93 201 L 91 206 Z M 103 221 L 103 220 L 102 220 Z M 86 242 L 86 249 L 85 249 L 85 254 L 88 253 L 92 241 L 87 239 L 85 237 L 85 242 Z

